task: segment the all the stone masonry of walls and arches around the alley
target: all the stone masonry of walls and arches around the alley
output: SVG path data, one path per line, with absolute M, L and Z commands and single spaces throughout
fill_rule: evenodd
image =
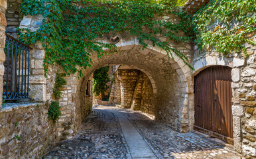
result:
M 11 4 L 11 3 L 10 3 Z M 11 5 L 10 5 L 11 6 Z M 5 61 L 5 18 L 7 1 L 0 1 L 0 91 L 3 91 L 3 74 Z M 161 21 L 178 21 L 178 17 L 164 13 L 156 19 Z M 36 30 L 40 27 L 42 17 L 27 16 L 21 21 L 21 28 Z M 213 23 L 212 28 L 219 24 Z M 178 34 L 182 34 L 179 32 Z M 196 47 L 189 42 L 176 43 L 166 38 L 159 38 L 168 42 L 174 48 L 186 54 L 190 64 L 194 67 L 192 71 L 184 62 L 174 55 L 174 60 L 169 59 L 165 50 L 153 47 L 151 44 L 144 50 L 139 45 L 137 37 L 130 36 L 122 38 L 117 43 L 119 53 L 106 54 L 97 58 L 92 53 L 92 67 L 82 70 L 84 77 L 78 74 L 65 77 L 67 84 L 62 89 L 63 96 L 60 98 L 62 115 L 58 122 L 53 125 L 47 119 L 47 107 L 44 105 L 29 104 L 26 106 L 1 109 L 2 93 L 0 93 L 0 157 L 1 158 L 36 158 L 42 154 L 42 150 L 50 144 L 65 138 L 72 138 L 78 131 L 82 119 L 92 111 L 92 74 L 97 68 L 109 65 L 125 65 L 138 73 L 133 83 L 122 83 L 125 73 L 131 75 L 131 70 L 121 71 L 121 80 L 112 85 L 113 92 L 110 99 L 113 103 L 123 107 L 140 109 L 146 113 L 154 112 L 157 119 L 168 124 L 172 129 L 180 132 L 190 132 L 194 127 L 194 76 L 210 66 L 228 66 L 232 68 L 232 115 L 233 115 L 233 140 L 237 152 L 249 157 L 256 157 L 255 147 L 255 58 L 256 47 L 246 45 L 249 57 L 241 54 L 233 56 L 219 56 L 214 50 L 206 50 L 198 54 Z M 255 34 L 249 36 L 256 40 Z M 98 39 L 101 42 L 109 43 L 106 37 Z M 61 68 L 49 67 L 47 77 L 44 77 L 42 67 L 45 51 L 42 44 L 38 42 L 31 46 L 31 72 L 30 72 L 30 93 L 35 101 L 51 101 L 52 87 L 56 78 L 56 72 Z M 137 71 L 139 70 L 139 71 Z M 122 75 L 123 73 L 123 75 Z M 133 74 L 134 76 L 135 74 Z M 123 76 L 123 77 L 122 77 Z M 118 78 L 118 76 L 117 76 Z M 128 77 L 127 77 L 128 78 Z M 131 77 L 129 77 L 131 78 Z M 135 77 L 133 77 L 135 78 Z M 90 84 L 88 84 L 90 83 Z M 139 84 L 141 83 L 141 84 Z M 90 85 L 91 87 L 88 87 Z M 132 91 L 125 92 L 128 86 Z M 121 88 L 123 87 L 123 88 Z M 120 88 L 120 89 L 119 89 Z M 144 91 L 143 91 L 144 90 Z M 126 94 L 125 94 L 126 93 Z M 127 95 L 125 97 L 125 95 Z M 129 99 L 127 100 L 127 97 Z M 129 101 L 124 103 L 124 101 Z M 143 107 L 139 107 L 139 103 Z M 152 104 L 153 103 L 153 104 Z M 33 113 L 31 113 L 33 112 Z M 17 127 L 15 125 L 17 123 Z M 16 123 L 16 124 L 15 124 Z M 29 131 L 34 128 L 34 131 Z M 3 133 L 2 133 L 3 132 Z M 18 134 L 20 140 L 18 140 Z M 34 144 L 36 142 L 36 144 Z M 29 148 L 24 148 L 25 145 Z M 21 152 L 23 151 L 23 152 Z M 35 157 L 34 157 L 35 156 Z

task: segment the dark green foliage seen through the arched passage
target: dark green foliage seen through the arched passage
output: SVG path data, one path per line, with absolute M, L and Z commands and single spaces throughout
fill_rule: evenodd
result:
M 94 71 L 94 77 L 93 77 L 93 88 L 92 91 L 94 94 L 97 95 L 103 95 L 105 91 L 109 87 L 107 87 L 107 82 L 109 82 L 109 67 L 103 67 L 99 68 Z

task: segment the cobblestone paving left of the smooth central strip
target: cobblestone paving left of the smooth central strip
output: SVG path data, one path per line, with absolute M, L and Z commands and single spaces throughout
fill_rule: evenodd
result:
M 94 111 L 82 122 L 73 139 L 59 142 L 44 159 L 126 158 L 123 142 L 115 116 L 107 111 Z

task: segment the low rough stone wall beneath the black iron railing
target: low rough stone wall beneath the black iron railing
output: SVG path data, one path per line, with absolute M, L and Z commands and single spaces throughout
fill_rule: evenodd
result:
M 8 105 L 0 110 L 0 158 L 40 158 L 58 141 L 58 125 L 48 120 L 48 107 L 39 103 Z

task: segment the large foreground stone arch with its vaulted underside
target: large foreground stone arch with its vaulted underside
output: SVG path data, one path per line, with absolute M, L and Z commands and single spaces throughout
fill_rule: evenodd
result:
M 97 54 L 92 54 L 92 66 L 86 70 L 82 69 L 84 78 L 79 78 L 78 74 L 66 78 L 69 81 L 66 88 L 72 91 L 72 97 L 68 98 L 68 101 L 65 101 L 64 98 L 60 99 L 60 105 L 71 109 L 70 120 L 74 123 L 72 130 L 76 132 L 86 114 L 82 112 L 86 111 L 84 107 L 88 106 L 82 106 L 84 100 L 81 98 L 81 92 L 84 91 L 82 89 L 84 89 L 85 83 L 92 78 L 93 72 L 104 66 L 127 65 L 130 68 L 141 70 L 150 79 L 154 92 L 153 102 L 156 107 L 157 120 L 168 123 L 176 131 L 191 131 L 194 121 L 194 110 L 190 111 L 193 103 L 190 99 L 193 92 L 191 69 L 176 56 L 174 56 L 174 60 L 168 58 L 166 52 L 159 48 L 149 46 L 143 50 L 136 38 L 127 41 L 121 40 L 117 47 L 118 52 L 110 52 L 100 58 L 97 57 Z M 59 120 L 60 125 L 62 122 L 66 122 L 66 115 L 63 114 Z

